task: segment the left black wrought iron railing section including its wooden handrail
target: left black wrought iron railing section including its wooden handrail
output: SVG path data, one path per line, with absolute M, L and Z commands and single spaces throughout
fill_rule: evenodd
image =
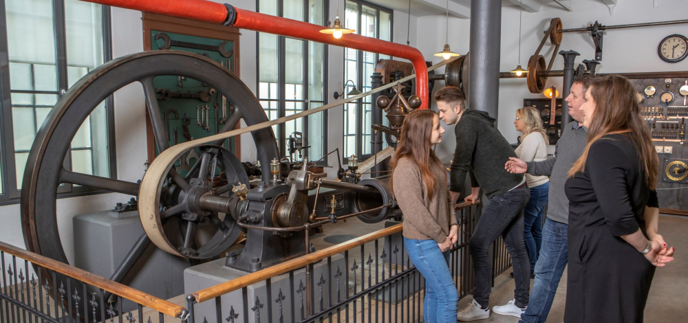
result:
M 177 304 L 1 242 L 0 262 L 0 323 L 162 323 L 188 316 Z M 107 302 L 109 293 L 116 302 Z

